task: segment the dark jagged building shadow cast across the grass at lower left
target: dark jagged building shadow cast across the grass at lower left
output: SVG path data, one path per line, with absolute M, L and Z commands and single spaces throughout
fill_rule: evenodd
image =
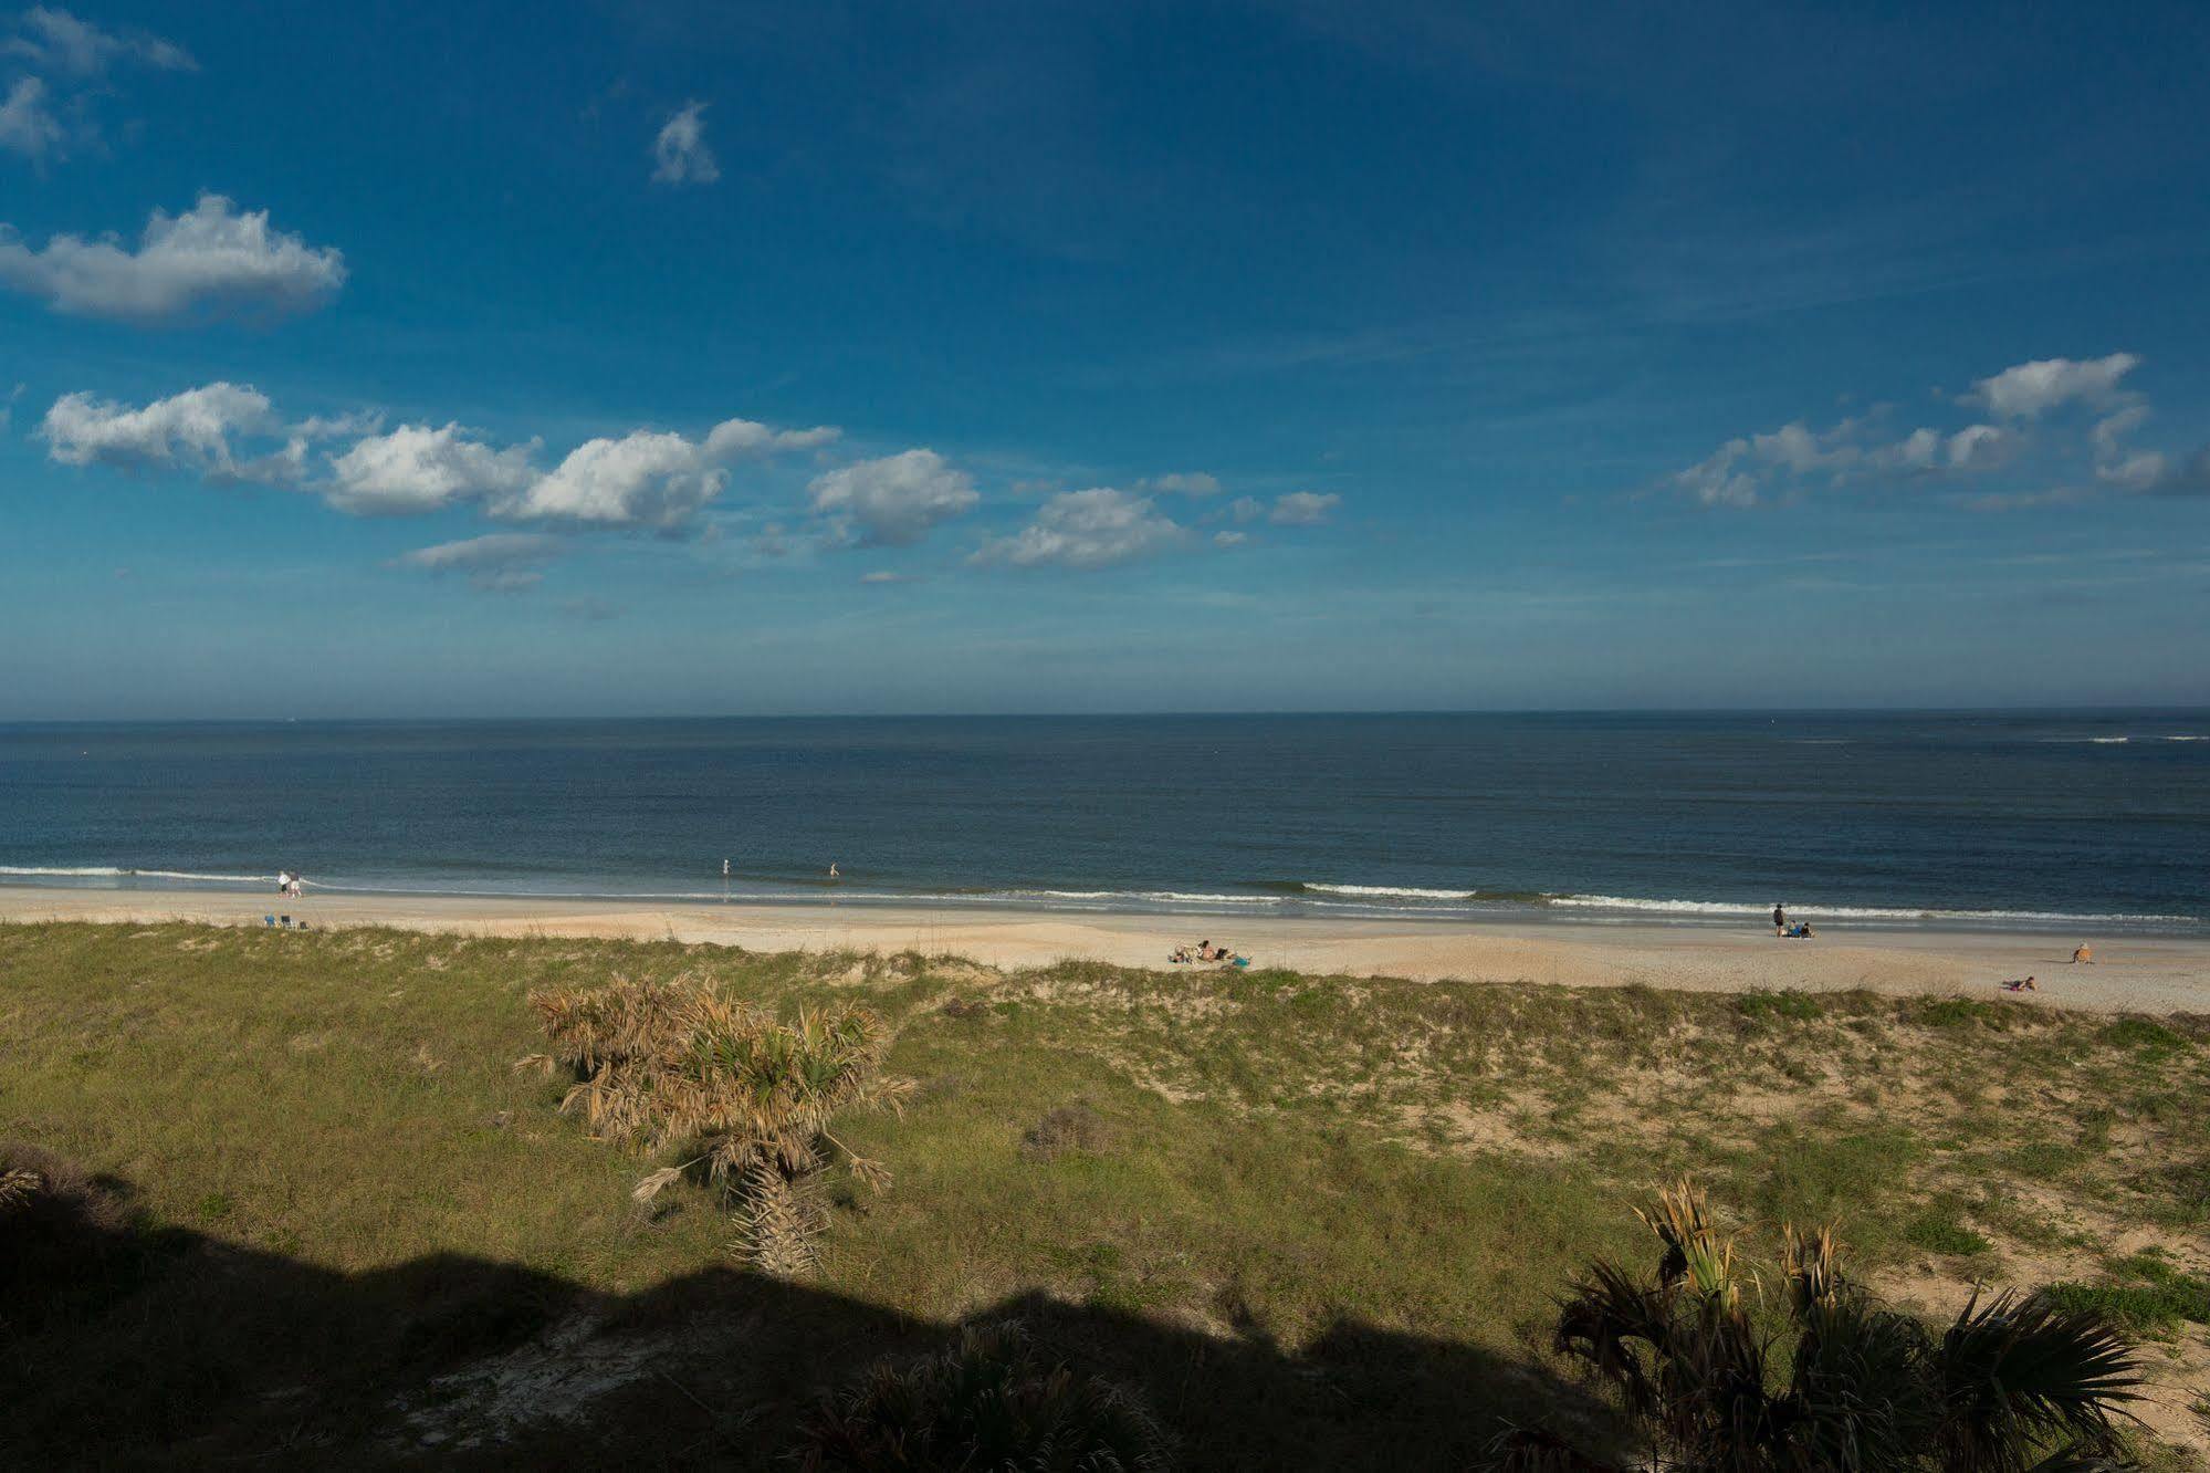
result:
M 720 1267 L 630 1296 L 462 1256 L 336 1274 L 80 1185 L 0 1219 L 13 1466 L 791 1466 L 824 1387 L 959 1329 Z M 1288 1354 L 1043 1294 L 968 1323 L 1008 1316 L 1136 1389 L 1185 1469 L 1467 1466 L 1505 1418 L 1604 1422 L 1527 1362 L 1370 1325 Z

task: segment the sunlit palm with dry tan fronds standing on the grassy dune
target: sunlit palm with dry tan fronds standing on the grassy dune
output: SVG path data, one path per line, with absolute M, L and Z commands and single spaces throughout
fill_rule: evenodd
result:
M 842 1161 L 882 1190 L 888 1172 L 831 1132 L 844 1112 L 895 1108 L 906 1082 L 882 1073 L 888 1031 L 866 1009 L 802 1009 L 793 1022 L 712 982 L 541 989 L 530 1006 L 577 1086 L 561 1110 L 592 1135 L 685 1161 L 645 1177 L 639 1201 L 692 1170 L 743 1212 L 738 1250 L 771 1274 L 811 1265 L 818 1179 Z

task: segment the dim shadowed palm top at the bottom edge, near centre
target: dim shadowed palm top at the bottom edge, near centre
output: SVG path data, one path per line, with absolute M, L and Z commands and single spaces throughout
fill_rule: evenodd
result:
M 1165 1438 L 1136 1398 L 1039 1354 L 1017 1320 L 968 1327 L 948 1349 L 882 1362 L 807 1420 L 802 1469 L 1032 1469 L 1149 1473 Z

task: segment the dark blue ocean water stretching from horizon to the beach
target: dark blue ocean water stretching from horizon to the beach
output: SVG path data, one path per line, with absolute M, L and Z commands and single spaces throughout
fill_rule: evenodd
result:
M 0 725 L 38 885 L 2188 929 L 2206 854 L 2210 712 Z

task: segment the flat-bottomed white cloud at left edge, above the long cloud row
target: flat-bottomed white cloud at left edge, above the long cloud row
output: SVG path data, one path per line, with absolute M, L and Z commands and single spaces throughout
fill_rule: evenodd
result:
M 137 250 L 57 234 L 42 250 L 0 226 L 0 285 L 55 312 L 150 323 L 192 310 L 298 312 L 345 285 L 345 257 L 201 195 L 183 215 L 155 210 Z

